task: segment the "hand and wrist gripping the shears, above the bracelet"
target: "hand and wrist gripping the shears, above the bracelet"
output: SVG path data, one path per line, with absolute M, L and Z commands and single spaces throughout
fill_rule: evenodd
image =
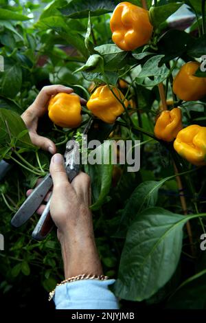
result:
M 64 159 L 60 154 L 52 157 L 50 173 L 54 183 L 50 214 L 58 228 L 65 278 L 79 274 L 102 275 L 102 266 L 93 234 L 92 214 L 89 210 L 91 203 L 89 176 L 80 172 L 69 183 Z M 28 190 L 27 195 L 31 192 L 32 190 Z M 44 209 L 45 205 L 41 205 L 37 213 L 42 214 Z

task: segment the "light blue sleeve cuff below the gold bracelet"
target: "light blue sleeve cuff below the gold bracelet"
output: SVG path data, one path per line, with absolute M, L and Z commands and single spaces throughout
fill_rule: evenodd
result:
M 56 287 L 56 309 L 119 309 L 115 295 L 108 289 L 114 279 L 78 280 Z

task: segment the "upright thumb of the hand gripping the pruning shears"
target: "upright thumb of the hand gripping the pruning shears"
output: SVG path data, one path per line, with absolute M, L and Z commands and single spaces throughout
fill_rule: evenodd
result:
M 63 185 L 65 183 L 69 183 L 62 155 L 55 154 L 52 157 L 49 171 L 52 176 L 54 188 L 56 185 Z

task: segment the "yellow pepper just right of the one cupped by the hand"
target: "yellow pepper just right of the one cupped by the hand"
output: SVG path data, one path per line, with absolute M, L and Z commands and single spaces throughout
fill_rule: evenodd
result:
M 111 87 L 115 96 L 120 100 L 124 100 L 124 105 L 128 107 L 128 101 L 124 99 L 124 95 L 119 89 Z M 107 85 L 103 85 L 95 89 L 87 102 L 87 108 L 99 119 L 108 124 L 113 124 L 115 119 L 124 112 L 124 107 L 115 98 L 111 89 Z

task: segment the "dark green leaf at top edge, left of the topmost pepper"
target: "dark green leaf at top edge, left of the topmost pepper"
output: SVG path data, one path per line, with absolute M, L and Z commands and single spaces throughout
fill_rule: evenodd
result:
M 63 8 L 60 8 L 60 12 L 64 16 L 69 18 L 87 18 L 89 12 L 91 16 L 100 16 L 100 14 L 106 14 L 107 12 L 113 12 L 115 9 L 115 1 L 113 0 L 71 0 Z

